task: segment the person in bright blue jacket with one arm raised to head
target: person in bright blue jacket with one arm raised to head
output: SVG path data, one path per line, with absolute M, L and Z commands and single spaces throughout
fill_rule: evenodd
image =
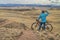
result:
M 48 11 L 42 10 L 41 14 L 37 18 L 37 20 L 41 20 L 38 31 L 41 29 L 42 25 L 43 25 L 42 29 L 45 30 L 45 23 L 46 23 L 46 18 L 48 14 L 49 14 Z

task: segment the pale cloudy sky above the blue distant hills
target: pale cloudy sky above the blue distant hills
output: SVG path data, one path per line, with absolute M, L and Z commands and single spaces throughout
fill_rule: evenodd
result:
M 51 4 L 51 2 L 56 0 L 0 0 L 0 4 Z M 60 0 L 58 0 L 60 4 Z

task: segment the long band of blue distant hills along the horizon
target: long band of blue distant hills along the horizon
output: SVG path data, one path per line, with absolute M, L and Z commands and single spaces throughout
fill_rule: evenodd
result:
M 42 5 L 42 4 L 0 4 L 0 7 L 20 7 L 20 6 L 60 8 L 60 5 L 57 6 L 57 5 Z

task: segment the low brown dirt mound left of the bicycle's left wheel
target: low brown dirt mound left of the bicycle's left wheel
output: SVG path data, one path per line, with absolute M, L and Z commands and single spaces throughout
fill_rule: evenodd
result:
M 5 28 L 18 28 L 18 29 L 27 29 L 27 26 L 24 23 L 11 22 L 9 24 L 4 25 Z

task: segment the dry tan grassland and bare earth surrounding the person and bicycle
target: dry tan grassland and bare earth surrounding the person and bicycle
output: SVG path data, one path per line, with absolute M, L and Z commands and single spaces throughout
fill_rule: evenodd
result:
M 0 10 L 0 40 L 21 40 L 21 38 L 27 38 L 26 40 L 30 40 L 29 38 L 32 40 L 34 40 L 33 38 L 37 40 L 60 40 L 60 10 L 48 11 L 50 15 L 47 20 L 53 25 L 53 31 L 34 33 L 30 27 L 40 14 L 40 10 Z

